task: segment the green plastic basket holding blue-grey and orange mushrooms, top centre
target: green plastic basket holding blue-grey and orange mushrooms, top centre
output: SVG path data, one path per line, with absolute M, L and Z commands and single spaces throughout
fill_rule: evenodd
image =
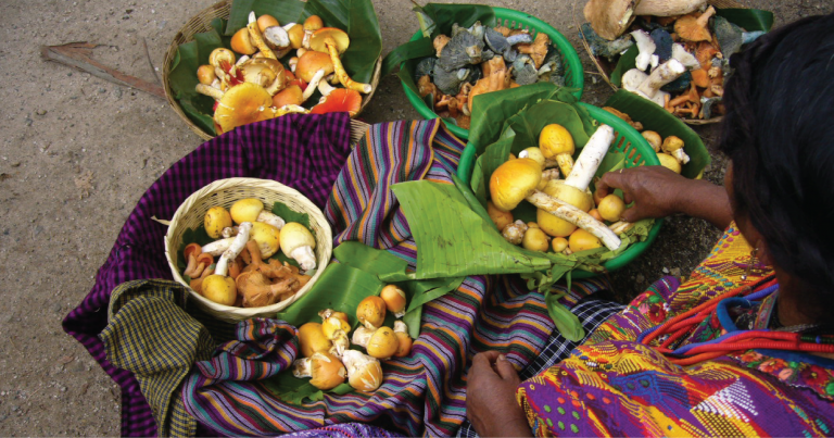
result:
M 505 8 L 492 8 L 492 10 L 495 13 L 496 26 L 506 26 L 510 29 L 528 29 L 533 35 L 533 37 L 535 37 L 535 35 L 540 32 L 547 34 L 547 36 L 551 38 L 551 43 L 556 46 L 556 48 L 559 50 L 559 53 L 561 54 L 561 63 L 565 66 L 565 86 L 576 89 L 572 95 L 576 96 L 577 99 L 582 98 L 582 90 L 584 88 L 584 73 L 582 71 L 582 62 L 579 60 L 579 54 L 577 54 L 573 46 L 570 45 L 570 41 L 568 41 L 568 39 L 565 38 L 561 33 L 556 30 L 549 24 L 523 12 Z M 416 41 L 420 38 L 422 38 L 422 33 L 417 30 L 414 33 L 414 36 L 409 41 Z M 409 71 L 408 74 L 414 74 L 414 72 Z M 408 88 L 405 84 L 403 84 L 403 89 L 405 89 L 405 96 L 408 97 L 408 100 L 412 102 L 412 107 L 414 107 L 414 109 L 417 110 L 417 112 L 420 113 L 422 117 L 439 117 L 439 115 L 434 113 L 434 111 L 431 111 L 422 98 L 414 92 L 414 90 Z M 448 130 L 451 130 L 457 137 L 465 140 L 469 138 L 469 129 L 464 129 L 448 121 L 443 122 L 448 127 Z

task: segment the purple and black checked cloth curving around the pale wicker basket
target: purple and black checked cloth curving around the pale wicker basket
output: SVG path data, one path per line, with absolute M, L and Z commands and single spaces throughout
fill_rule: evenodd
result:
M 63 322 L 64 330 L 122 387 L 123 437 L 154 436 L 156 424 L 138 381 L 131 373 L 108 362 L 98 335 L 108 324 L 113 288 L 134 279 L 172 278 L 163 255 L 166 228 L 151 216 L 169 218 L 192 192 L 231 177 L 274 179 L 324 208 L 350 152 L 346 113 L 286 115 L 206 141 L 175 163 L 139 199 L 99 268 L 92 290 Z

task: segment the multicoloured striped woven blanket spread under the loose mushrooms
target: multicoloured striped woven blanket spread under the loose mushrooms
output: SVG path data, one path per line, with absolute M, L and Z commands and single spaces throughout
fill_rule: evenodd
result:
M 327 202 L 336 245 L 357 240 L 386 249 L 414 270 L 417 248 L 391 186 L 417 179 L 452 184 L 450 175 L 464 146 L 437 120 L 372 126 L 349 158 Z M 571 305 L 599 285 L 574 285 L 563 302 Z M 201 373 L 201 364 L 188 379 L 187 410 L 231 436 L 276 436 L 361 422 L 410 437 L 447 437 L 466 418 L 471 358 L 500 350 L 521 370 L 538 356 L 554 327 L 543 296 L 528 291 L 516 276 L 471 276 L 457 290 L 424 306 L 420 328 L 409 356 L 383 363 L 384 380 L 372 393 L 326 392 L 320 401 L 291 404 L 255 379 L 256 360 L 226 355 L 228 370 L 219 378 L 217 373 Z

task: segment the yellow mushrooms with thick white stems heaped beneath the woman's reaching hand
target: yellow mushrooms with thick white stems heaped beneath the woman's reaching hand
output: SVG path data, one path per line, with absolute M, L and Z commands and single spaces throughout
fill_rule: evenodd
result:
M 531 251 L 571 254 L 620 248 L 619 235 L 633 227 L 621 220 L 624 202 L 617 195 L 599 199 L 589 190 L 614 139 L 614 129 L 601 125 L 574 162 L 570 133 L 551 124 L 540 133 L 539 147 L 510 155 L 490 176 L 486 210 L 502 236 Z M 513 210 L 521 201 L 538 208 L 535 222 L 515 221 Z

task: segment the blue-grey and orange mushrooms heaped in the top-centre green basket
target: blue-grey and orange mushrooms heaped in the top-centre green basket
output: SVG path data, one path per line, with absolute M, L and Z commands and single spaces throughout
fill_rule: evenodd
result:
M 472 98 L 491 91 L 545 80 L 565 85 L 558 50 L 549 37 L 526 29 L 494 28 L 476 22 L 452 26 L 451 36 L 433 40 L 435 57 L 422 59 L 414 72 L 420 97 L 433 96 L 434 111 L 468 129 Z

